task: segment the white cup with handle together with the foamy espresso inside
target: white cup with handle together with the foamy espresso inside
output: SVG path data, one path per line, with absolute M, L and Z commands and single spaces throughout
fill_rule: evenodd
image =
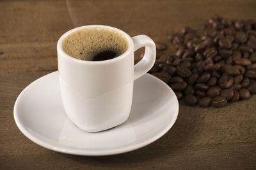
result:
M 145 55 L 134 65 L 134 50 L 141 47 Z M 63 107 L 86 132 L 107 130 L 129 118 L 134 80 L 156 61 L 156 45 L 148 36 L 131 37 L 99 25 L 68 31 L 58 40 L 57 52 Z

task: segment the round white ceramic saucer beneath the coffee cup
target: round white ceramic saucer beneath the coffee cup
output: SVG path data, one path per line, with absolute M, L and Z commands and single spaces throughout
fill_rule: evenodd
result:
M 175 123 L 179 103 L 163 81 L 148 73 L 134 82 L 129 119 L 103 132 L 84 132 L 68 120 L 58 72 L 32 82 L 17 98 L 14 119 L 31 141 L 74 155 L 113 155 L 136 150 L 163 136 Z

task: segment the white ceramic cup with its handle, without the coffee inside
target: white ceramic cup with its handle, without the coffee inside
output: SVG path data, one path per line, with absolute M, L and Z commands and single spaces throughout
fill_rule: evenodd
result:
M 89 27 L 104 27 L 122 34 L 129 44 L 124 54 L 105 61 L 84 61 L 68 56 L 61 43 L 71 33 Z M 145 55 L 134 66 L 134 51 Z M 68 118 L 87 132 L 99 132 L 124 123 L 131 111 L 133 82 L 152 68 L 156 45 L 146 35 L 130 37 L 109 26 L 82 26 L 61 36 L 57 44 L 58 70 L 63 106 Z

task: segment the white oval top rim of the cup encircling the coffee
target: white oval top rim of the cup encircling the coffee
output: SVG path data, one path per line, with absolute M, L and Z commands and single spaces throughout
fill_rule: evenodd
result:
M 85 29 L 85 28 L 88 28 L 88 27 L 106 27 L 108 29 L 112 29 L 112 30 L 115 30 L 117 31 L 118 33 L 122 34 L 125 36 L 125 38 L 127 39 L 127 42 L 128 42 L 128 49 L 123 53 L 121 54 L 120 56 L 116 57 L 116 58 L 113 58 L 113 59 L 107 59 L 107 60 L 104 60 L 104 61 L 86 61 L 86 60 L 82 60 L 82 59 L 77 59 L 77 58 L 73 58 L 72 56 L 69 56 L 68 54 L 66 54 L 64 52 L 64 50 L 62 49 L 62 42 L 64 40 L 64 38 L 66 38 L 68 35 L 70 35 L 71 33 L 74 33 L 75 31 L 78 31 L 80 29 Z M 76 61 L 77 63 L 84 63 L 84 64 L 91 64 L 91 65 L 99 65 L 99 64 L 107 64 L 107 63 L 112 63 L 112 62 L 115 62 L 115 61 L 119 61 L 121 60 L 122 58 L 125 58 L 125 56 L 127 56 L 127 53 L 129 53 L 130 50 L 132 50 L 132 47 L 133 47 L 133 43 L 132 43 L 132 39 L 131 39 L 131 36 L 127 35 L 127 33 L 125 33 L 124 31 L 120 30 L 120 29 L 117 29 L 116 27 L 111 27 L 111 26 L 104 26 L 104 25 L 88 25 L 88 26 L 81 26 L 81 27 L 76 27 L 74 29 L 70 29 L 69 31 L 67 31 L 66 33 L 64 33 L 60 39 L 58 40 L 58 43 L 57 43 L 57 52 L 61 54 L 61 56 L 69 59 L 69 60 L 72 60 L 72 61 Z M 58 55 L 59 57 L 60 55 Z

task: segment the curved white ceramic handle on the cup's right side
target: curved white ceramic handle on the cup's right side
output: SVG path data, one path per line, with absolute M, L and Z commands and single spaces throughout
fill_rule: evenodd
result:
M 134 51 L 145 47 L 145 54 L 141 61 L 134 66 L 134 80 L 141 77 L 152 68 L 156 61 L 156 45 L 147 35 L 138 35 L 132 37 Z

